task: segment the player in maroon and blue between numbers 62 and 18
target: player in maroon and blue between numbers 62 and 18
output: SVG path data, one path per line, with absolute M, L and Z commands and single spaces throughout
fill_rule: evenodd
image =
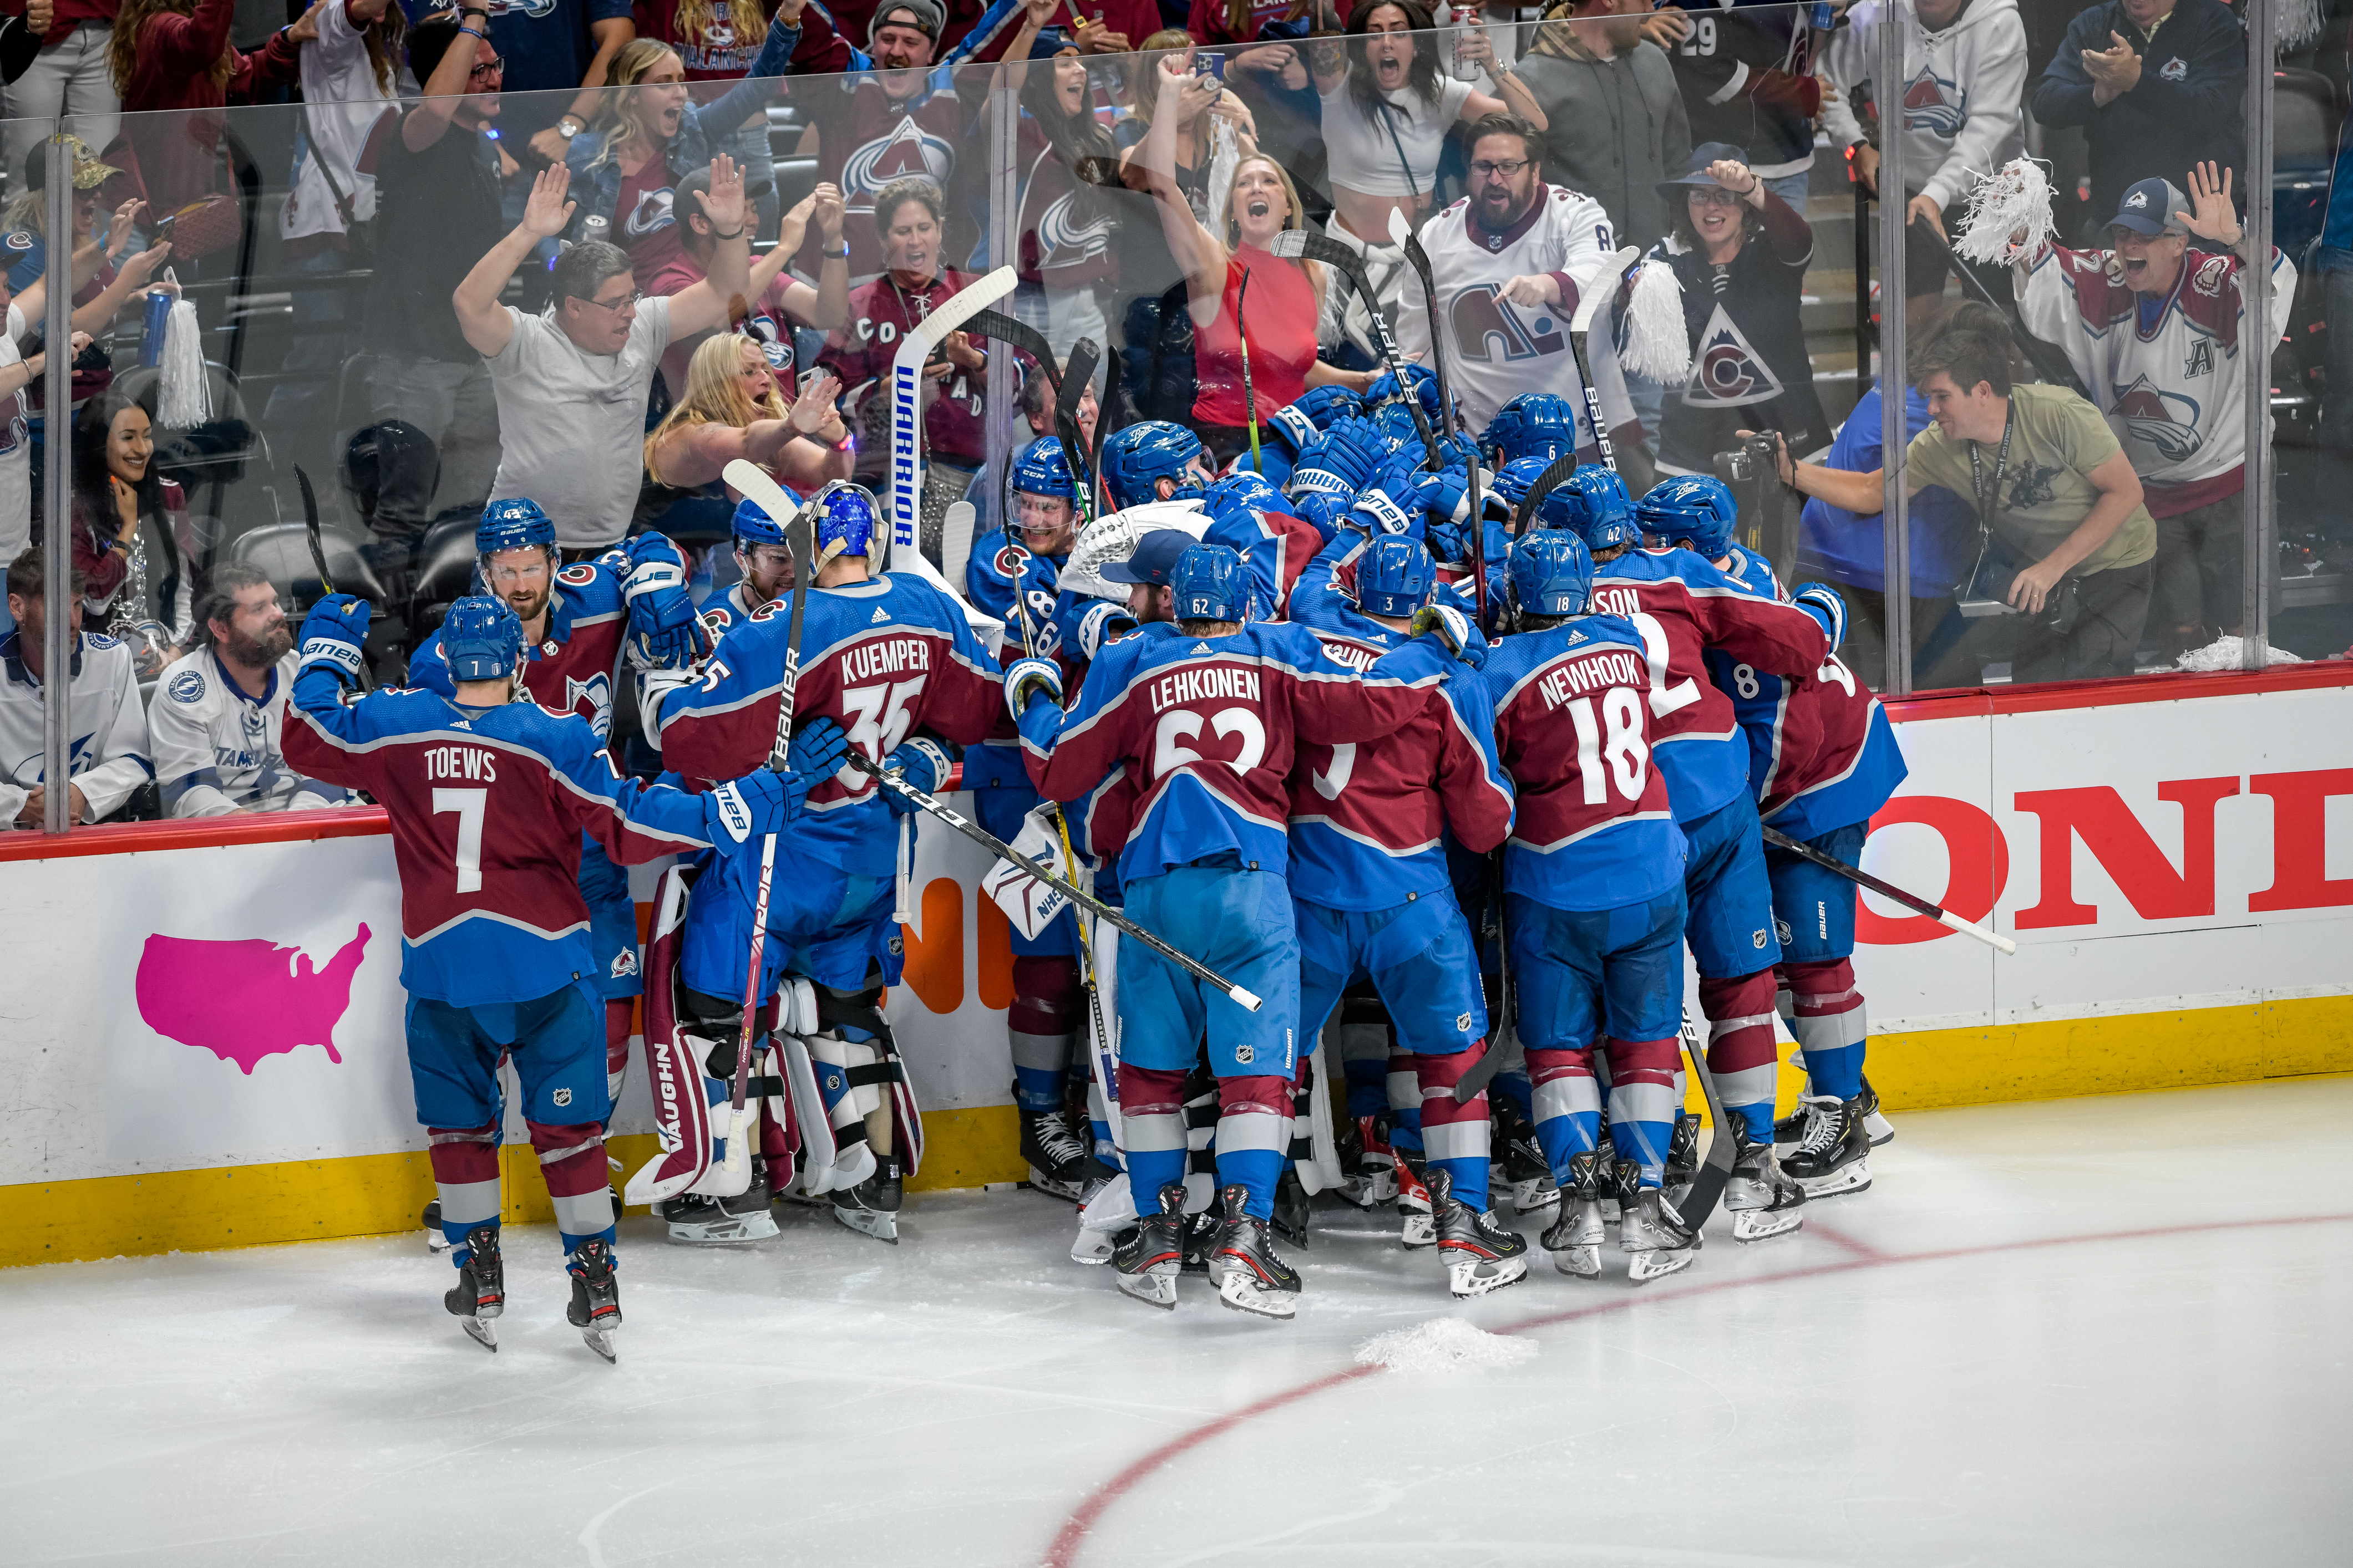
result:
M 1471 642 L 1461 663 L 1433 639 L 1407 642 L 1438 583 L 1431 552 L 1412 538 L 1355 543 L 1355 607 L 1325 599 L 1308 625 L 1339 663 L 1395 679 L 1435 675 L 1445 701 L 1381 741 L 1299 745 L 1289 816 L 1299 1023 L 1320 1030 L 1360 978 L 1379 992 L 1405 1056 L 1391 1067 L 1414 1079 L 1412 1131 L 1428 1161 L 1438 1255 L 1454 1295 L 1471 1298 L 1525 1279 L 1527 1241 L 1489 1213 L 1487 1093 L 1454 1098 L 1487 1053 L 1487 999 L 1445 837 L 1452 830 L 1473 853 L 1501 844 L 1511 783 L 1475 675 L 1478 632 L 1461 623 Z M 1346 536 L 1332 548 L 1346 548 Z

